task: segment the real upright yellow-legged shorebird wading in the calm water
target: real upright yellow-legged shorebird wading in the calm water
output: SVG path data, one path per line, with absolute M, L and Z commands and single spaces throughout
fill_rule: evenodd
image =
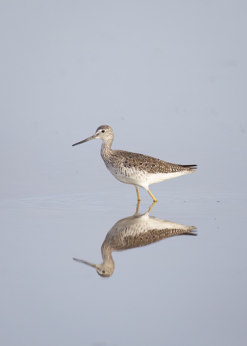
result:
M 107 169 L 122 183 L 135 185 L 138 201 L 140 201 L 138 186 L 144 188 L 157 202 L 148 185 L 195 172 L 196 165 L 177 165 L 152 156 L 113 150 L 111 149 L 113 137 L 112 128 L 108 125 L 101 125 L 93 136 L 75 143 L 73 146 L 95 138 L 102 139 L 101 157 Z

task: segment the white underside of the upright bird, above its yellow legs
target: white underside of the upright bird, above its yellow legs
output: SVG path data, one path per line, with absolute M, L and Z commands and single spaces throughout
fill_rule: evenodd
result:
M 108 167 L 107 167 L 108 168 Z M 109 169 L 109 168 L 108 168 Z M 137 185 L 145 190 L 148 190 L 148 185 L 159 183 L 163 180 L 172 179 L 180 175 L 193 173 L 192 171 L 183 171 L 183 172 L 173 172 L 173 173 L 144 173 L 134 169 L 128 170 L 130 176 L 121 174 L 118 170 L 110 167 L 109 171 L 115 178 L 122 183 Z

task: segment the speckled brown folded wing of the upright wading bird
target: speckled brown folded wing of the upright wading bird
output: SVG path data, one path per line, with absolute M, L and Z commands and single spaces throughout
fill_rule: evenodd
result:
M 172 172 L 183 172 L 183 171 L 194 171 L 196 165 L 178 165 L 169 162 L 159 160 L 158 158 L 126 152 L 122 150 L 113 150 L 112 160 L 121 162 L 125 167 L 138 167 L 143 168 L 148 173 L 172 173 Z

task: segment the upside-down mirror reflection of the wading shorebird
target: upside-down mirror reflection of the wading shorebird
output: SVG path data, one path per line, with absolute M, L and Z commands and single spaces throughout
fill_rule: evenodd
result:
M 154 204 L 142 215 L 139 215 L 139 206 L 137 205 L 134 215 L 119 220 L 109 230 L 101 246 L 103 263 L 93 264 L 78 258 L 73 258 L 73 260 L 94 267 L 100 276 L 109 277 L 115 268 L 111 255 L 113 251 L 146 246 L 165 238 L 183 234 L 196 235 L 192 232 L 196 230 L 194 226 L 180 225 L 176 222 L 149 216 Z

